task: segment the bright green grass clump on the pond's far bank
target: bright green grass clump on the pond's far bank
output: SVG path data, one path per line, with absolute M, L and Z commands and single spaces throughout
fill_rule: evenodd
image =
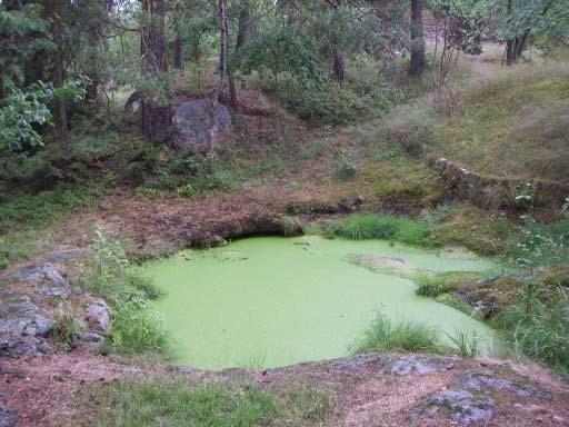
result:
M 385 239 L 412 246 L 425 246 L 429 227 L 423 221 L 376 214 L 349 217 L 338 234 L 352 240 Z

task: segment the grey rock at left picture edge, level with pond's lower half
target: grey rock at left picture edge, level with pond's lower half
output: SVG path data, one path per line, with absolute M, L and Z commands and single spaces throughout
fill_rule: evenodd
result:
M 51 332 L 53 321 L 31 304 L 10 304 L 0 312 L 0 335 L 44 337 Z

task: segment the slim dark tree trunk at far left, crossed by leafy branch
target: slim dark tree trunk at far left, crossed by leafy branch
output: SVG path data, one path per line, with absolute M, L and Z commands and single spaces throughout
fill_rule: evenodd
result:
M 63 37 L 61 34 L 61 18 L 59 16 L 59 2 L 53 4 L 53 10 L 51 13 L 52 24 L 51 24 L 51 33 L 53 37 L 53 42 L 56 44 L 56 50 L 53 53 L 53 83 L 56 88 L 61 88 L 63 86 L 64 80 L 64 66 L 63 66 Z M 67 147 L 69 143 L 69 129 L 67 122 L 67 103 L 63 99 L 54 100 L 54 121 L 56 121 L 56 132 L 58 135 L 59 141 Z

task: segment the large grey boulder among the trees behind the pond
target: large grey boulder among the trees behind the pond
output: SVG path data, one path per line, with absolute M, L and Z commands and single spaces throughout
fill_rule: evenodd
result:
M 172 121 L 178 146 L 209 148 L 210 141 L 214 145 L 222 133 L 231 130 L 228 110 L 218 103 L 211 120 L 211 109 L 212 101 L 209 98 L 183 102 L 176 108 Z

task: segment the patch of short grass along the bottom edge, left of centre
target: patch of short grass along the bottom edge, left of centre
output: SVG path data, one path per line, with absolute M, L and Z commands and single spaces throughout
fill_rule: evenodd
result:
M 318 389 L 263 390 L 251 385 L 192 385 L 183 378 L 114 381 L 91 389 L 86 405 L 100 427 L 317 426 L 332 403 Z

